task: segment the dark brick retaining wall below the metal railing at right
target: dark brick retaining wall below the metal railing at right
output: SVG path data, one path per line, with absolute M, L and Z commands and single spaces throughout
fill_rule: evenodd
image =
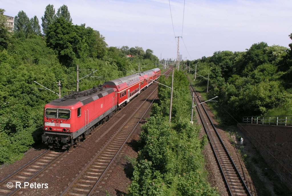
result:
M 243 123 L 237 126 L 292 190 L 292 127 Z

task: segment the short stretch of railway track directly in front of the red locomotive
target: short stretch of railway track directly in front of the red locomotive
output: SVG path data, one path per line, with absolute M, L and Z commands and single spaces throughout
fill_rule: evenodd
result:
M 39 176 L 39 174 L 41 174 L 66 153 L 67 151 L 52 151 L 51 149 L 46 150 L 29 163 L 25 164 L 17 171 L 1 180 L 0 195 L 12 196 L 16 193 L 20 193 L 21 188 L 25 186 L 25 182 L 32 182 L 33 179 Z M 16 183 L 18 183 L 17 187 Z

